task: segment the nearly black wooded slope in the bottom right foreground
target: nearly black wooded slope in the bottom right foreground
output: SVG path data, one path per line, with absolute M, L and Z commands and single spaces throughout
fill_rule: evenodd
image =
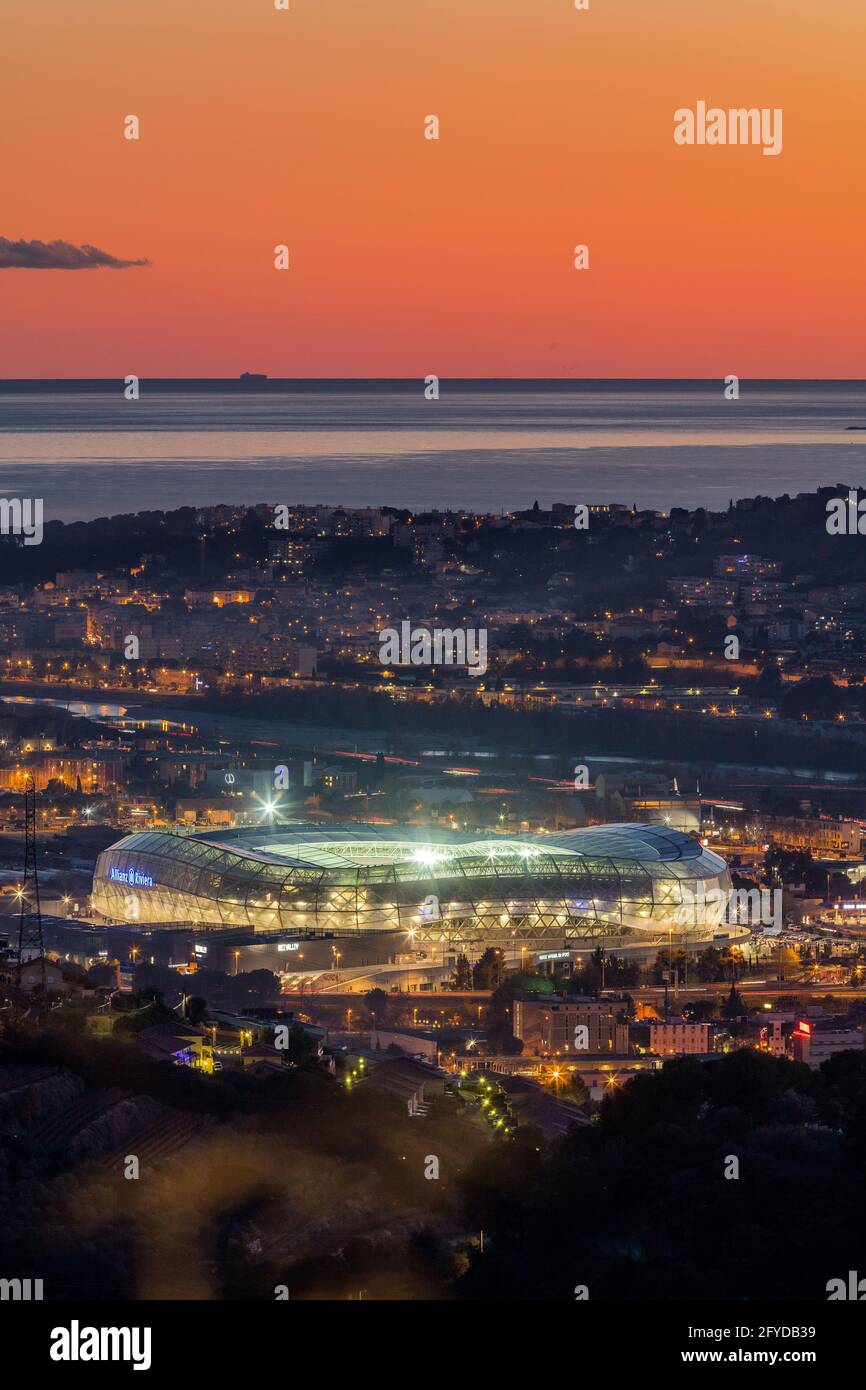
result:
M 598 1125 L 493 1148 L 460 1186 L 485 1251 L 457 1297 L 826 1298 L 863 1264 L 866 1055 L 671 1061 Z

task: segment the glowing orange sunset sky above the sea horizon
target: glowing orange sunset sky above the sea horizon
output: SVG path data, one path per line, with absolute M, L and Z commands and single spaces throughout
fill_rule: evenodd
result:
M 0 375 L 866 375 L 863 0 L 3 10 L 0 236 L 153 264 L 0 270 Z

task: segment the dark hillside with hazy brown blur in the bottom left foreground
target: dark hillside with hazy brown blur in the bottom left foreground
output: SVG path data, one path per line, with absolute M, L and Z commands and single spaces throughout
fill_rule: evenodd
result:
M 0 1258 L 43 1279 L 46 1298 L 272 1300 L 278 1284 L 292 1298 L 436 1297 L 461 1268 L 456 1182 L 488 1141 L 455 1099 L 413 1122 L 398 1099 L 313 1062 L 203 1076 L 57 1022 L 7 1027 L 0 1083 L 8 1068 L 56 1069 L 39 1083 L 57 1093 L 49 1118 L 121 1097 L 125 1129 L 89 1161 L 71 1131 L 42 1143 L 43 1115 L 8 1108 L 0 1087 Z M 124 1155 L 185 1116 L 183 1147 L 128 1180 Z M 431 1152 L 436 1182 L 424 1177 Z

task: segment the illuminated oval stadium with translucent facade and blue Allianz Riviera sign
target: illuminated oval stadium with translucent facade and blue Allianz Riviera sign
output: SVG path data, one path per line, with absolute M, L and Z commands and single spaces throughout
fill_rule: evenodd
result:
M 405 933 L 409 941 L 539 938 L 649 944 L 684 927 L 723 859 L 663 826 L 499 837 L 406 826 L 140 831 L 100 853 L 99 919 L 256 933 Z

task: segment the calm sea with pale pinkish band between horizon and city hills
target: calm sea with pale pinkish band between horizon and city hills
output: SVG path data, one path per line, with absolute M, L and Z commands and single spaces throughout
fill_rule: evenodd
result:
M 99 392 L 0 384 L 0 495 L 46 520 L 215 502 L 723 507 L 866 485 L 866 384 Z

